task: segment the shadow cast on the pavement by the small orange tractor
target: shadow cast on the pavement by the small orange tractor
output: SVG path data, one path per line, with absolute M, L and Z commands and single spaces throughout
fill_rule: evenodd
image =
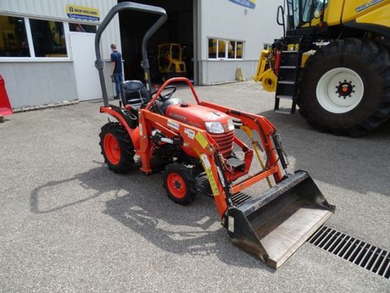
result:
M 65 187 L 77 185 L 79 192 L 84 195 L 88 192 L 83 190 L 94 192 L 93 195 L 69 203 L 61 203 L 60 199 L 51 197 L 51 205 L 55 207 L 41 209 L 39 197 L 44 196 L 45 188 L 63 188 L 63 184 Z M 167 198 L 160 174 L 146 177 L 137 171 L 137 167 L 128 175 L 119 175 L 100 164 L 73 178 L 39 186 L 31 192 L 30 210 L 36 214 L 55 213 L 99 196 L 107 197 L 107 193 L 114 193 L 114 198 L 105 202 L 103 213 L 163 251 L 178 255 L 212 254 L 228 265 L 274 272 L 233 245 L 227 231 L 219 224 L 212 199 L 198 194 L 192 205 L 177 205 Z

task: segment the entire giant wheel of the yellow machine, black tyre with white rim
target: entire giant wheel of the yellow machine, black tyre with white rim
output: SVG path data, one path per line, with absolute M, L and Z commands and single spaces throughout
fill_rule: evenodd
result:
M 361 135 L 390 118 L 390 49 L 370 40 L 330 43 L 309 58 L 299 112 L 321 131 Z

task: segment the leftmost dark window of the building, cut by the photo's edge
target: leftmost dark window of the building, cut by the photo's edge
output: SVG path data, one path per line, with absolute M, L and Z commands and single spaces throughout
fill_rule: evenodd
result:
M 30 57 L 23 18 L 0 15 L 0 57 Z

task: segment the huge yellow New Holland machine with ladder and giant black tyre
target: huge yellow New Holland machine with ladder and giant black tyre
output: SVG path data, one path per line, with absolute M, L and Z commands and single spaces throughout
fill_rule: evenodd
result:
M 310 125 L 352 136 L 390 118 L 390 0 L 286 0 L 277 22 L 284 37 L 254 76 L 275 91 L 276 112 L 298 105 Z

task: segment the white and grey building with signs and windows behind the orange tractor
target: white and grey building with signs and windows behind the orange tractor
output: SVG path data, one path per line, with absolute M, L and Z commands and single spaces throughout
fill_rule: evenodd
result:
M 282 35 L 275 23 L 282 0 L 135 1 L 166 8 L 167 24 L 151 39 L 149 49 L 153 52 L 162 42 L 187 44 L 188 76 L 195 84 L 234 81 L 237 67 L 245 78 L 251 78 L 263 44 Z M 95 32 L 117 2 L 0 0 L 0 74 L 14 109 L 101 97 L 94 66 Z M 109 78 L 110 44 L 117 43 L 123 56 L 129 56 L 124 58 L 125 78 L 135 79 L 126 68 L 140 68 L 137 54 L 130 54 L 139 42 L 129 40 L 141 38 L 147 29 L 142 23 L 150 17 L 143 17 L 144 21 L 132 22 L 132 14 L 116 16 L 102 35 L 109 96 L 114 95 Z

